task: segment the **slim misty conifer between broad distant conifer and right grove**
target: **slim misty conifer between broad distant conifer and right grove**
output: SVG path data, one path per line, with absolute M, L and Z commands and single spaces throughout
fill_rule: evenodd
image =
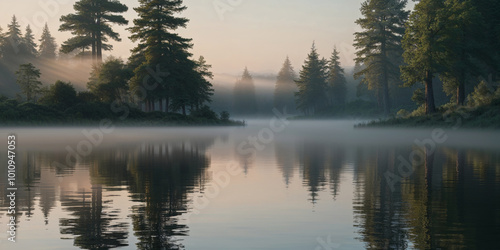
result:
M 346 102 L 347 86 L 337 48 L 333 50 L 330 58 L 327 83 L 329 104 L 342 109 Z

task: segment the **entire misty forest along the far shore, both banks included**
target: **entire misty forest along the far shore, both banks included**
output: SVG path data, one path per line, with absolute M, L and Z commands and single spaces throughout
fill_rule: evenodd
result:
M 321 56 L 315 41 L 298 72 L 285 59 L 269 77 L 270 91 L 259 90 L 246 67 L 234 88 L 215 91 L 211 65 L 194 59 L 192 39 L 176 32 L 189 22 L 180 15 L 183 1 L 139 3 L 129 23 L 120 1 L 77 1 L 74 13 L 60 17 L 58 32 L 72 34 L 61 45 L 47 25 L 40 39 L 15 16 L 5 32 L 0 27 L 2 123 L 224 124 L 229 113 L 269 115 L 276 108 L 308 119 L 389 118 L 391 125 L 439 123 L 445 113 L 487 118 L 477 126 L 500 124 L 498 1 L 422 0 L 409 11 L 406 0 L 367 0 L 356 20 L 355 67 L 341 65 L 333 44 L 331 55 Z M 110 40 L 122 39 L 115 25 L 126 26 L 136 43 L 126 61 L 103 57 L 113 49 Z M 85 88 L 58 79 L 72 74 L 68 65 L 88 69 Z

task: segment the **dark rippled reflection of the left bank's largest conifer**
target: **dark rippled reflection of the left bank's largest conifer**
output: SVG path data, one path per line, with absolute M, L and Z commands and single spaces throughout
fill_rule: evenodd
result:
M 188 228 L 178 217 L 187 212 L 187 195 L 206 182 L 206 145 L 169 143 L 145 146 L 129 162 L 132 219 L 138 249 L 181 249 Z

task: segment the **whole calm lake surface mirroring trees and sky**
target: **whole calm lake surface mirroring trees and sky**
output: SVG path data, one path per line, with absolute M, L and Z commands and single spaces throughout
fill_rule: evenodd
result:
M 500 132 L 357 122 L 2 128 L 0 248 L 500 249 Z

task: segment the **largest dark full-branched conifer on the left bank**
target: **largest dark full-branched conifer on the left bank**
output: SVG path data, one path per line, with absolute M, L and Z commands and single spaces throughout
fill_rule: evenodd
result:
M 175 33 L 178 28 L 185 28 L 189 21 L 175 16 L 186 7 L 182 0 L 139 0 L 139 4 L 134 8 L 139 18 L 129 28 L 132 32 L 130 39 L 138 42 L 130 58 L 131 64 L 135 65 L 131 89 L 153 86 L 146 89 L 146 110 L 153 110 L 156 101 L 160 102 L 162 109 L 165 101 L 166 111 L 179 108 L 184 111 L 189 105 L 187 92 L 194 91 L 187 88 L 186 76 L 192 76 L 196 67 L 189 59 L 191 39 Z M 174 101 L 175 105 L 170 106 Z

